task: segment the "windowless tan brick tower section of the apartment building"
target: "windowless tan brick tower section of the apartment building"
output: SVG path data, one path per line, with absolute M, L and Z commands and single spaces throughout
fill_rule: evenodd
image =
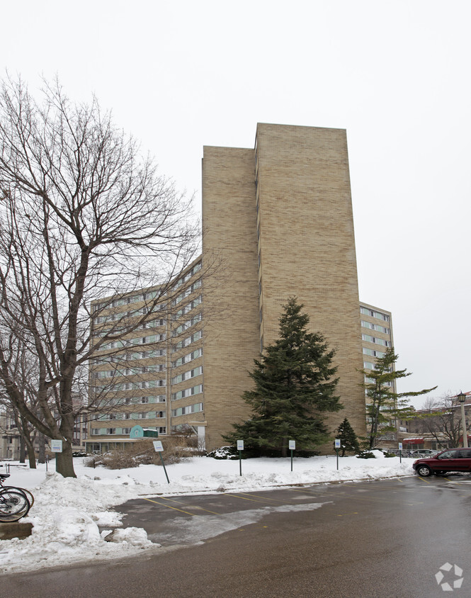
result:
M 259 124 L 254 150 L 205 147 L 203 261 L 220 283 L 203 292 L 208 444 L 248 414 L 240 395 L 261 346 L 278 334 L 282 305 L 297 296 L 310 329 L 336 348 L 344 417 L 363 435 L 365 397 L 346 131 Z

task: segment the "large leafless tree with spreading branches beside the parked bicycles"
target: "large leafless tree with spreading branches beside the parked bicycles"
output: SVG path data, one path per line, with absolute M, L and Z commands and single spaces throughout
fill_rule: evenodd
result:
M 21 80 L 1 86 L 0 380 L 19 417 L 62 440 L 57 471 L 74 476 L 74 417 L 84 408 L 74 397 L 86 396 L 93 349 L 155 317 L 199 227 L 191 202 L 95 98 L 75 105 L 58 82 L 42 92 L 40 103 Z M 158 292 L 145 312 L 126 322 L 122 313 L 92 339 L 91 300 L 103 299 L 96 317 L 113 295 L 148 286 Z M 15 375 L 20 353 L 34 364 L 34 408 Z

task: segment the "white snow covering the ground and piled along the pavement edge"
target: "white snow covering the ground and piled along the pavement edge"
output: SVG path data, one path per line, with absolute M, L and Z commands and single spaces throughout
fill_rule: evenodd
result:
M 142 495 L 172 496 L 215 492 L 250 492 L 269 488 L 341 480 L 374 480 L 412 475 L 412 459 L 339 458 L 336 456 L 294 458 L 257 458 L 242 461 L 220 461 L 207 457 L 188 458 L 167 466 L 167 483 L 161 466 L 107 470 L 84 466 L 84 459 L 75 458 L 77 478 L 62 478 L 44 465 L 37 470 L 11 467 L 8 484 L 28 488 L 35 497 L 28 517 L 21 521 L 33 523 L 33 533 L 24 539 L 0 541 L 0 573 L 13 573 L 97 560 L 122 558 L 143 550 L 159 550 L 159 544 L 147 538 L 144 529 L 118 529 L 113 542 L 104 540 L 110 531 L 122 526 L 119 512 L 113 507 Z M 0 464 L 1 465 L 1 464 Z M 5 469 L 1 468 L 0 473 Z M 119 507 L 118 507 L 119 511 Z M 1 523 L 0 523 L 1 526 Z M 101 531 L 98 526 L 106 527 Z M 224 529 L 221 530 L 225 531 Z

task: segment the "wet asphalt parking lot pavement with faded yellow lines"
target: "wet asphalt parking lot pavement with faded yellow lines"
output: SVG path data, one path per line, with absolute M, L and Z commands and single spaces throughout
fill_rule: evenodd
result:
M 453 596 L 471 596 L 470 476 L 145 497 L 117 510 L 163 548 L 4 576 L 0 596 L 433 598 L 452 593 L 438 572 Z

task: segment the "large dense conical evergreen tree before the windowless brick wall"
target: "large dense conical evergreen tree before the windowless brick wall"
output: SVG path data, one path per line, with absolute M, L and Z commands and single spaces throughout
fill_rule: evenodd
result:
M 283 305 L 279 338 L 254 360 L 249 376 L 255 389 L 242 395 L 253 415 L 234 424 L 226 441 L 244 439 L 247 449 L 286 456 L 289 439 L 296 441 L 296 449 L 307 451 L 329 440 L 323 414 L 343 407 L 334 394 L 335 351 L 328 350 L 322 334 L 307 332 L 309 316 L 301 313 L 302 307 L 296 298 Z

